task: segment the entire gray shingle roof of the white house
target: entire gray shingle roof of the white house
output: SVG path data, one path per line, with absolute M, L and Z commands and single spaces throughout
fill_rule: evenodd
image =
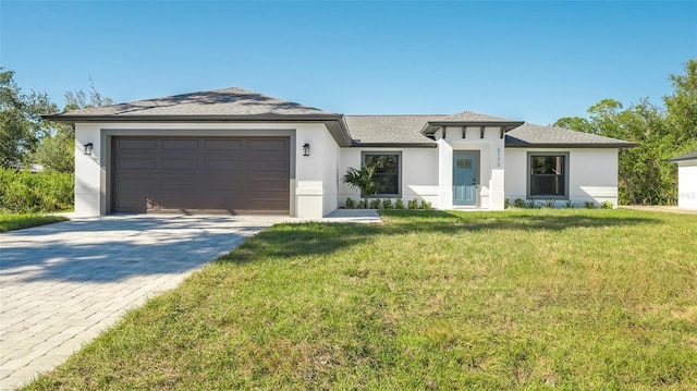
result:
M 321 121 L 341 146 L 436 146 L 425 134 L 448 124 L 492 123 L 508 147 L 633 147 L 632 143 L 462 111 L 452 115 L 341 115 L 242 88 L 213 89 L 42 115 L 80 121 Z M 342 121 L 343 120 L 343 121 Z M 519 126 L 518 126 L 519 125 Z M 350 139 L 351 136 L 351 139 Z M 677 159 L 677 158 L 676 158 Z

